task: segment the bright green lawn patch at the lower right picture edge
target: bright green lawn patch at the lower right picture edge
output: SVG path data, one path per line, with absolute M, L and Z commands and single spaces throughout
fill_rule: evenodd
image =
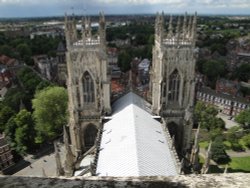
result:
M 249 157 L 232 157 L 229 163 L 229 172 L 250 172 Z

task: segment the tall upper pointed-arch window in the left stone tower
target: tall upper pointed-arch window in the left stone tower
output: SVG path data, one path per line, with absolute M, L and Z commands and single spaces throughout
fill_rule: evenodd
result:
M 88 72 L 85 72 L 82 78 L 83 82 L 83 101 L 84 103 L 95 102 L 94 81 Z

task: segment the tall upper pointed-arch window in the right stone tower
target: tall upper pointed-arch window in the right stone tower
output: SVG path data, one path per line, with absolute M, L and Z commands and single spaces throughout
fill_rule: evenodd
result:
M 178 102 L 179 93 L 180 93 L 180 75 L 177 70 L 175 70 L 169 76 L 169 85 L 168 85 L 168 101 L 169 102 Z

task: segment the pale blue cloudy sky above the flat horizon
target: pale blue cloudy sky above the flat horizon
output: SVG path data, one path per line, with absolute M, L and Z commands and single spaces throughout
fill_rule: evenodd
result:
M 1 17 L 75 14 L 140 14 L 164 11 L 198 14 L 250 14 L 250 0 L 0 0 Z

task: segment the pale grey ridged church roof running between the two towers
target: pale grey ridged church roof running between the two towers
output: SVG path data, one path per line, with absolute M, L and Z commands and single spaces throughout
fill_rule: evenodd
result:
M 112 119 L 103 127 L 98 176 L 178 174 L 161 123 L 145 109 L 147 103 L 133 93 L 114 104 Z

